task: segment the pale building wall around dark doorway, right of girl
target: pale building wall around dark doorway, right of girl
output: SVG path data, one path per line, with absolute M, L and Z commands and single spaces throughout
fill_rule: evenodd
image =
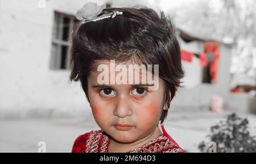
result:
M 203 51 L 203 43 L 191 42 L 186 44 L 180 41 L 181 49 L 200 53 Z M 217 95 L 224 98 L 225 106 L 230 103 L 230 62 L 231 49 L 225 45 L 220 46 L 220 58 L 218 60 L 218 83 L 201 83 L 203 68 L 199 65 L 199 60 L 193 57 L 192 63 L 182 62 L 185 72 L 184 88 L 179 88 L 174 100 L 171 102 L 172 109 L 186 110 L 208 110 L 212 103 L 212 96 Z M 190 64 L 190 66 L 189 66 Z

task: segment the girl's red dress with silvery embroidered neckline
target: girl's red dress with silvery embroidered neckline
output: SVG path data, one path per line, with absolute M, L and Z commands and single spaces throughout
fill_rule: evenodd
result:
M 161 127 L 162 135 L 127 153 L 184 153 L 184 150 L 164 130 L 163 125 Z M 108 153 L 109 141 L 110 137 L 104 131 L 91 131 L 77 137 L 72 153 Z

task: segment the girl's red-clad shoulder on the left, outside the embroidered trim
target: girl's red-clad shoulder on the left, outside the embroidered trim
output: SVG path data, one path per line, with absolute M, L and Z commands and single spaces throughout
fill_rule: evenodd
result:
M 90 131 L 88 133 L 84 133 L 83 135 L 80 135 L 79 137 L 76 138 L 73 148 L 72 148 L 72 153 L 84 153 L 86 149 L 86 141 L 90 139 L 90 136 L 92 136 L 94 133 L 99 132 L 98 131 Z

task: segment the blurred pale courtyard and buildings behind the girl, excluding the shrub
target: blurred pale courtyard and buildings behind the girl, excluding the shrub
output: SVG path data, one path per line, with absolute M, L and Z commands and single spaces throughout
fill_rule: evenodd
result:
M 38 152 L 40 141 L 46 152 L 71 152 L 77 136 L 100 129 L 80 84 L 68 80 L 75 13 L 86 2 L 171 15 L 185 77 L 164 127 L 181 148 L 202 151 L 210 127 L 232 113 L 255 136 L 255 1 L 0 0 L 0 152 Z

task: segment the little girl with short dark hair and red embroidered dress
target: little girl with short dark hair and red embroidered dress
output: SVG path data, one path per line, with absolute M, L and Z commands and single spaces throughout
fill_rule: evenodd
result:
M 101 130 L 77 137 L 72 152 L 184 152 L 163 126 L 184 75 L 170 18 L 90 2 L 76 17 L 70 78 L 81 82 Z

